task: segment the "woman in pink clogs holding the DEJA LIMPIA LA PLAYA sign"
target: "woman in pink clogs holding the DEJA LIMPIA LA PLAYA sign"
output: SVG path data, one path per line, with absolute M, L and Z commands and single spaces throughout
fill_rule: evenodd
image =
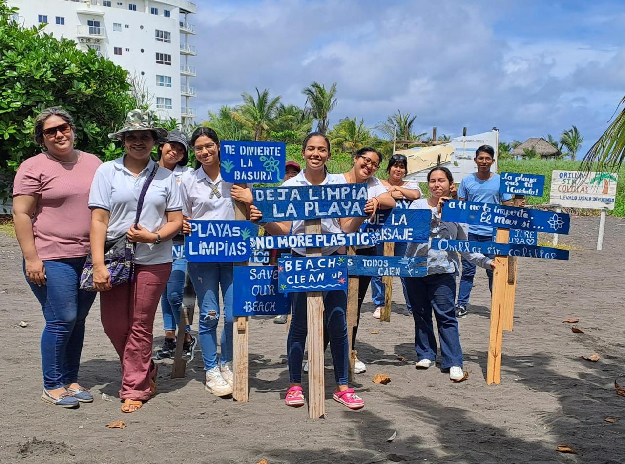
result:
M 327 137 L 319 132 L 312 132 L 302 143 L 302 157 L 306 162 L 306 169 L 302 170 L 292 179 L 287 179 L 284 187 L 307 187 L 309 185 L 334 185 L 344 184 L 343 175 L 329 174 L 326 162 L 330 158 L 330 142 Z M 369 200 L 364 212 L 375 214 L 377 202 Z M 250 206 L 250 219 L 262 220 L 262 213 L 256 206 Z M 346 217 L 341 219 L 321 219 L 322 234 L 337 234 L 339 232 L 356 232 L 362 224 L 364 217 Z M 292 222 L 292 224 L 291 224 Z M 291 231 L 292 225 L 292 231 Z M 304 220 L 267 222 L 265 230 L 272 235 L 305 234 L 306 224 Z M 323 247 L 322 255 L 337 255 L 339 247 Z M 293 249 L 292 254 L 302 256 L 306 249 Z M 304 346 L 306 345 L 307 312 L 306 294 L 296 293 L 292 297 L 292 318 L 289 335 L 287 336 L 286 349 L 289 365 L 289 388 L 286 391 L 284 402 L 287 406 L 300 407 L 304 405 L 304 392 L 302 390 L 302 360 L 304 358 Z M 364 407 L 364 400 L 360 398 L 352 388 L 347 385 L 347 292 L 345 290 L 333 290 L 323 292 L 324 303 L 324 326 L 329 334 L 329 343 L 334 362 L 334 378 L 336 391 L 332 397 L 337 402 L 350 409 Z

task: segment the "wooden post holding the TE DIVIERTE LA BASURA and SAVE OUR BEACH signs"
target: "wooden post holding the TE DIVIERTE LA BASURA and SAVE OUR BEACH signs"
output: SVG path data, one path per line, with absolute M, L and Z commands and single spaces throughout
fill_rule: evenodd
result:
M 245 184 L 235 184 L 246 187 Z M 234 202 L 234 219 L 245 220 L 247 217 L 245 204 Z M 247 261 L 234 263 L 235 266 L 245 266 Z M 234 285 L 234 283 L 232 284 Z M 235 290 L 233 290 L 235 291 Z M 249 389 L 249 321 L 247 317 L 235 317 L 232 325 L 232 398 L 236 401 L 247 402 Z

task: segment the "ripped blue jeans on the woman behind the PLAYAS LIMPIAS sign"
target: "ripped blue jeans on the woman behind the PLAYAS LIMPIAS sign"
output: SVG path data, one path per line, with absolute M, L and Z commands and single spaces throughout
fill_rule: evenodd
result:
M 217 366 L 217 322 L 219 322 L 219 286 L 224 300 L 224 330 L 221 332 L 220 363 L 232 361 L 232 263 L 187 264 L 196 290 L 199 322 L 197 333 L 202 348 L 204 369 Z

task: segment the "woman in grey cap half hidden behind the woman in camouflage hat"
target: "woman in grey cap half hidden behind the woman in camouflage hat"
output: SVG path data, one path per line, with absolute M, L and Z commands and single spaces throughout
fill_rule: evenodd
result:
M 179 186 L 183 175 L 191 171 L 187 164 L 189 164 L 189 137 L 181 131 L 169 132 L 167 142 L 158 147 L 158 165 L 171 170 Z M 163 346 L 156 352 L 156 359 L 171 358 L 176 352 L 176 327 L 180 321 L 180 311 L 183 305 L 184 282 L 187 274 L 187 260 L 184 258 L 184 235 L 176 235 L 173 242 L 174 262 L 167 287 L 161 295 L 165 340 L 163 340 Z M 191 326 L 187 325 L 184 329 L 184 360 L 191 361 L 193 359 L 196 345 L 197 338 L 191 335 Z

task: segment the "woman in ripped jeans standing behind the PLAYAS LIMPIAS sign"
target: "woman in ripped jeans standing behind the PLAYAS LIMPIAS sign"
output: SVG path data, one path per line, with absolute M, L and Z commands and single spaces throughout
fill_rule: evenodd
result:
M 198 127 L 191 136 L 196 170 L 182 180 L 183 232 L 191 232 L 187 219 L 234 220 L 234 201 L 251 203 L 247 188 L 221 179 L 219 137 L 209 127 Z M 207 392 L 217 397 L 232 394 L 232 263 L 187 264 L 199 306 L 198 334 L 206 371 Z M 221 356 L 217 362 L 217 322 L 219 322 L 219 287 L 223 299 L 224 328 L 221 332 Z

